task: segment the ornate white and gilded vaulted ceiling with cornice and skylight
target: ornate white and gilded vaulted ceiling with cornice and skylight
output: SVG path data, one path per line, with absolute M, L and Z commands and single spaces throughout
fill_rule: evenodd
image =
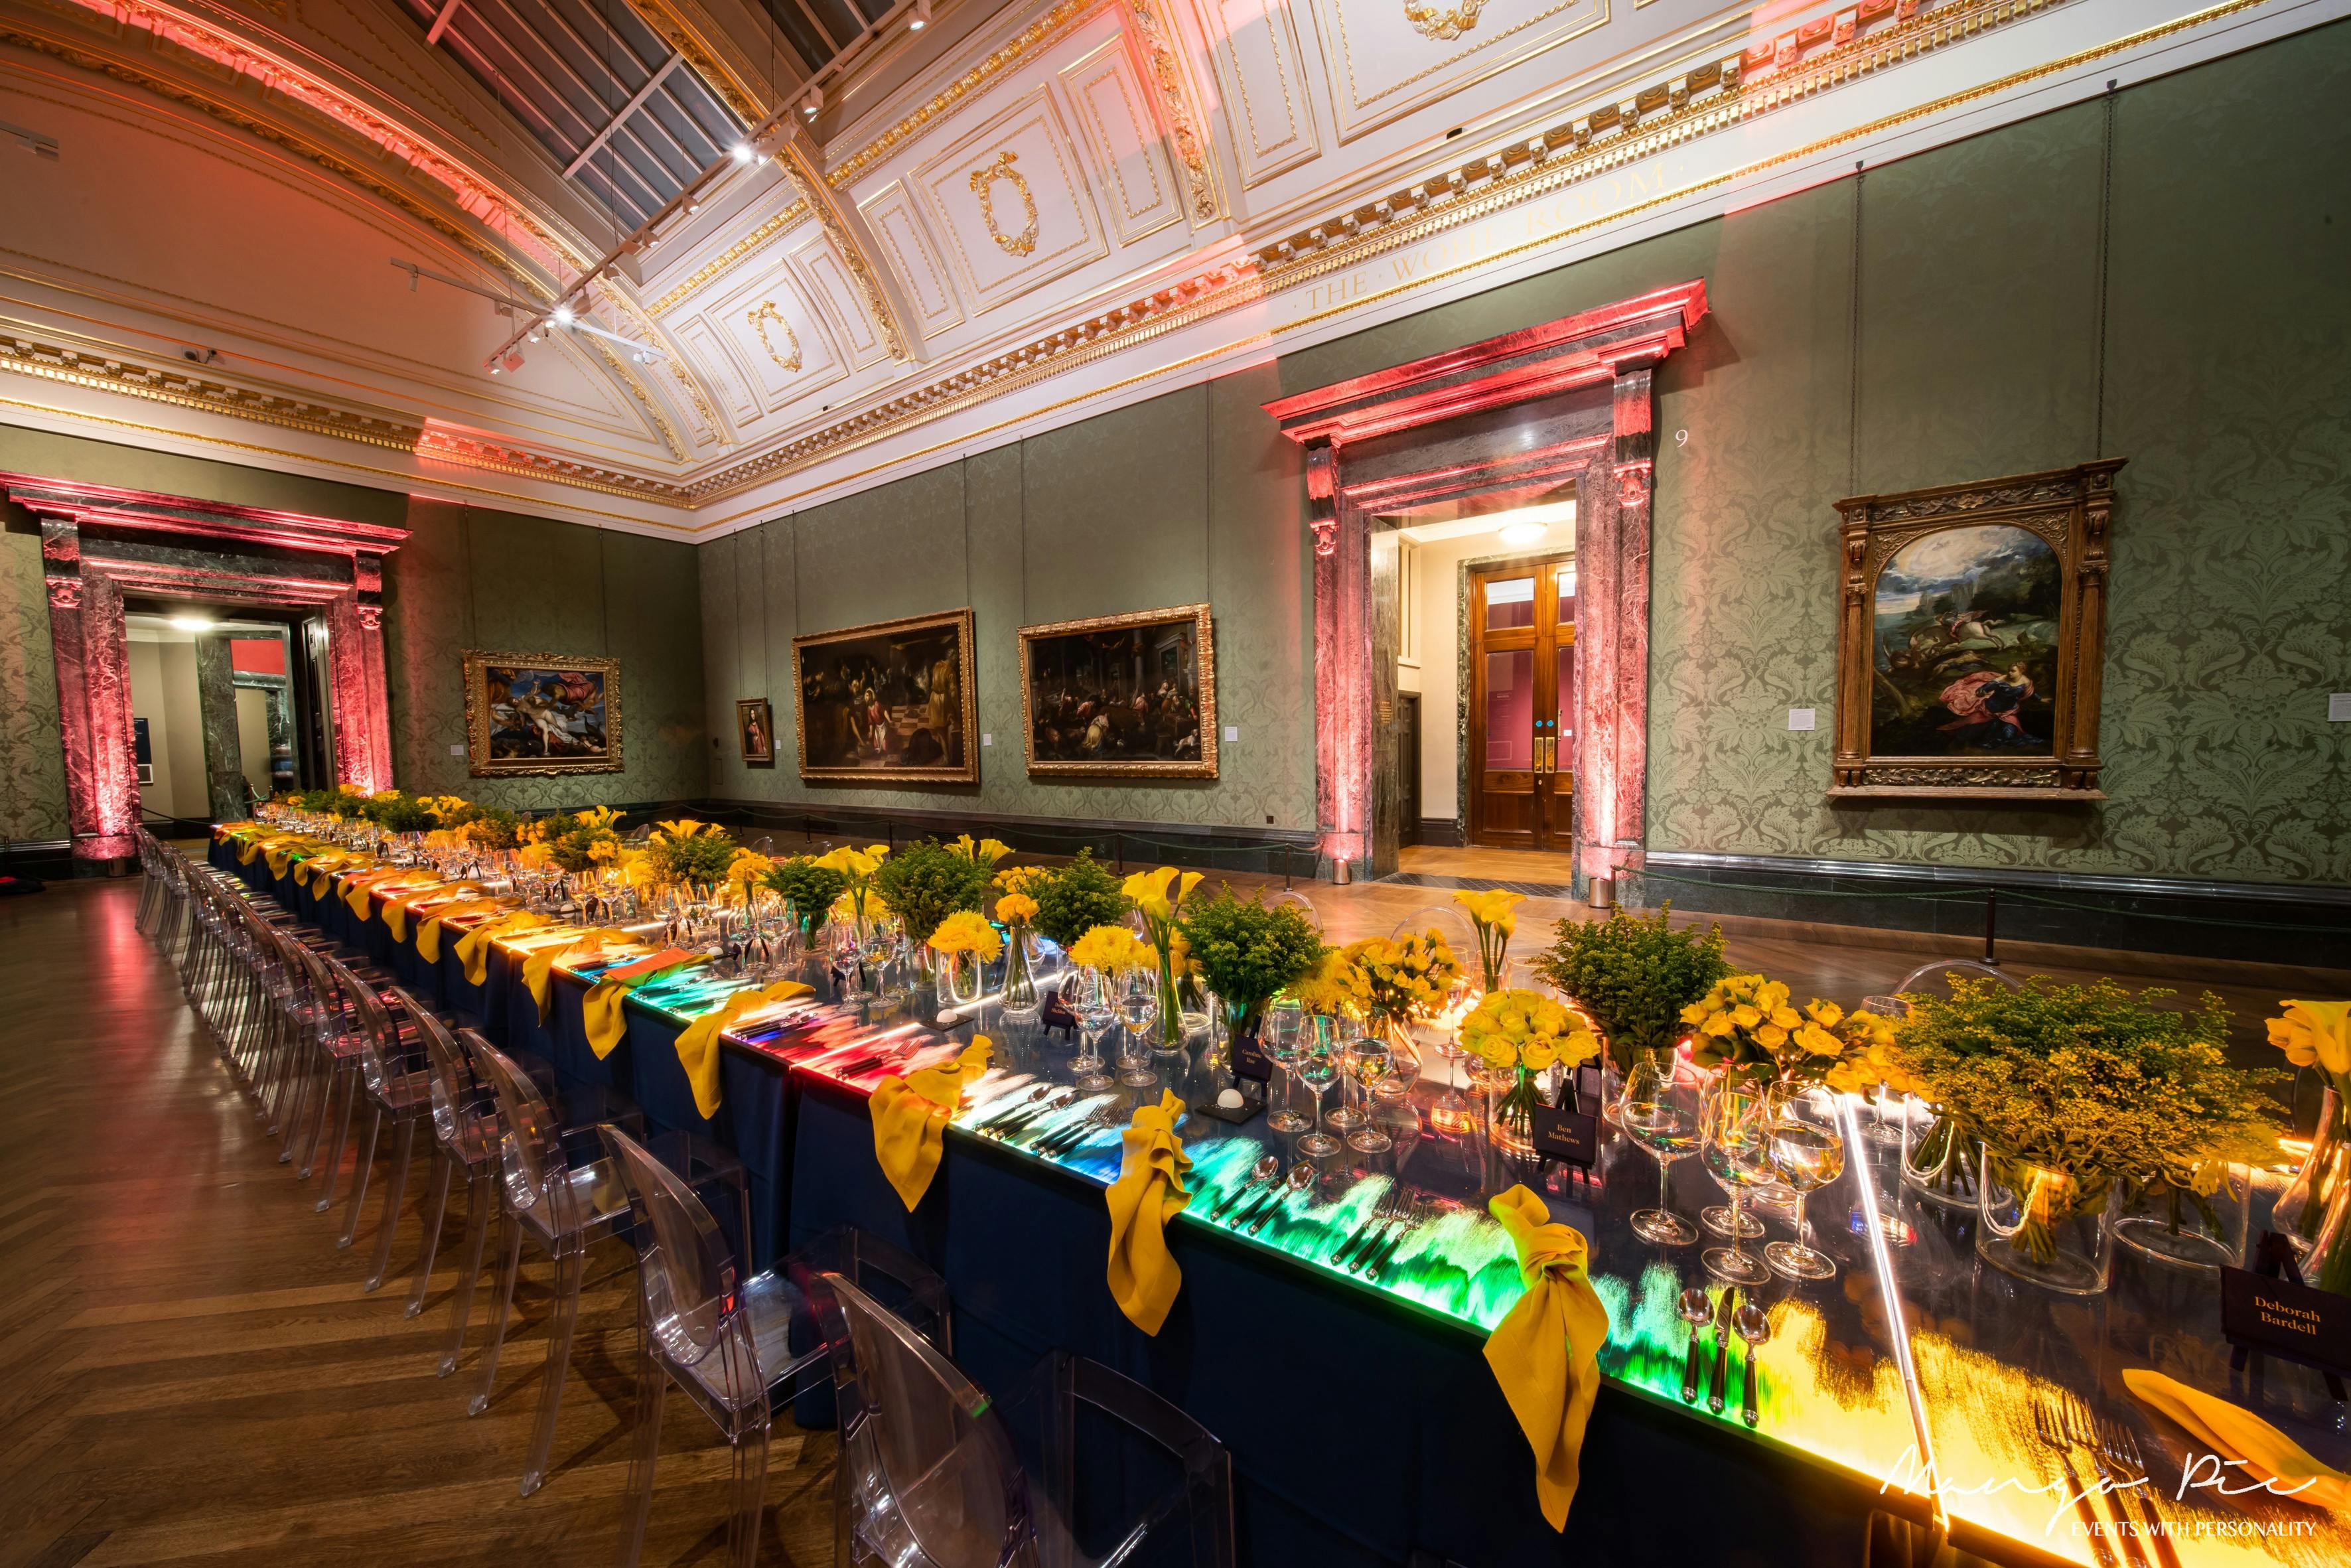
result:
M 2342 12 L 0 0 L 0 421 L 710 534 Z

